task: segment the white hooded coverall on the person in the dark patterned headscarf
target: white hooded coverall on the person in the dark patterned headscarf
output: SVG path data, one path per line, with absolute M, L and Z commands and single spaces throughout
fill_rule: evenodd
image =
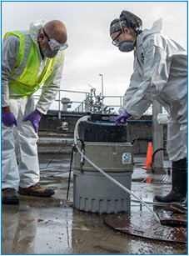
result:
M 187 53 L 162 35 L 162 18 L 137 36 L 134 72 L 122 107 L 141 118 L 154 100 L 167 110 L 167 153 L 171 161 L 187 157 Z

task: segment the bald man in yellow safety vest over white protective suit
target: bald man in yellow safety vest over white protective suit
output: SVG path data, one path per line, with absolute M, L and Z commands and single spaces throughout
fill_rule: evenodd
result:
M 58 20 L 39 19 L 29 30 L 3 38 L 2 203 L 19 203 L 18 193 L 41 197 L 55 193 L 39 184 L 37 131 L 60 88 L 67 46 L 66 27 Z M 35 107 L 32 94 L 42 84 Z

